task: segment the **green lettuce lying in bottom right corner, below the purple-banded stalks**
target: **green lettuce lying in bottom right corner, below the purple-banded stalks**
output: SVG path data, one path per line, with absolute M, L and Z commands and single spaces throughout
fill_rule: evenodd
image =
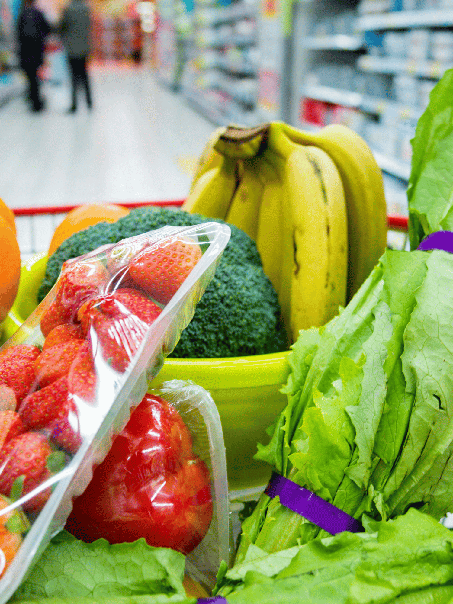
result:
M 402 604 L 449 602 L 448 529 L 416 509 L 364 525 L 368 532 L 340 533 L 267 556 L 251 546 L 245 561 L 220 577 L 217 593 L 229 604 L 371 604 L 399 596 Z M 429 594 L 432 599 L 422 599 Z

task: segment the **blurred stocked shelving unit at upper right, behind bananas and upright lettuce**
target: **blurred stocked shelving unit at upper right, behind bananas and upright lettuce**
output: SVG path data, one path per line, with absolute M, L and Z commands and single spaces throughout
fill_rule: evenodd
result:
M 300 97 L 292 100 L 292 121 L 310 129 L 352 127 L 381 168 L 406 181 L 416 122 L 453 63 L 449 8 L 453 0 L 295 7 L 294 31 L 301 37 L 294 43 L 292 82 Z

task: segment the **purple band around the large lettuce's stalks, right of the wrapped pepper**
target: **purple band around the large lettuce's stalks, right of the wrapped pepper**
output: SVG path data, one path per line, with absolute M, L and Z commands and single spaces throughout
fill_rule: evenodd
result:
M 344 530 L 350 533 L 361 533 L 364 530 L 360 522 L 346 512 L 275 472 L 265 493 L 272 499 L 278 495 L 284 507 L 300 514 L 330 535 L 336 535 Z

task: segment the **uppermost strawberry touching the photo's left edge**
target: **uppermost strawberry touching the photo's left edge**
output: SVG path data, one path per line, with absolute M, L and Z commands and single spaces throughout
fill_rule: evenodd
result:
M 34 360 L 40 354 L 36 346 L 21 344 L 0 356 L 0 384 L 14 391 L 18 405 L 34 387 Z

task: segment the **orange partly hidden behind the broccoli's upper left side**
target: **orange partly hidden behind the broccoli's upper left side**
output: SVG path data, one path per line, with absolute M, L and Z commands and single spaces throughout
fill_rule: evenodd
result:
M 123 208 L 122 205 L 114 204 L 92 204 L 79 205 L 79 207 L 71 210 L 57 226 L 54 236 L 50 242 L 48 256 L 51 256 L 54 251 L 72 234 L 83 231 L 88 226 L 97 225 L 98 222 L 117 222 L 121 216 L 127 216 L 129 210 Z

